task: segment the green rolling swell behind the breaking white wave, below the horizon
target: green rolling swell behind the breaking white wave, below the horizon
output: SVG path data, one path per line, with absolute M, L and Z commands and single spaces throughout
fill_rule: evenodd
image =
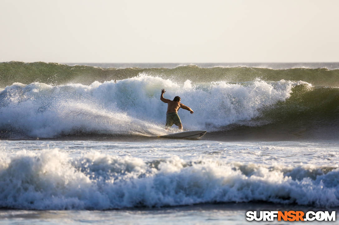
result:
M 52 85 L 81 83 L 90 85 L 94 81 L 122 80 L 140 73 L 171 79 L 183 83 L 187 79 L 200 82 L 245 82 L 256 78 L 267 81 L 302 80 L 314 86 L 339 86 L 339 70 L 325 68 L 307 69 L 268 69 L 255 67 L 212 67 L 202 68 L 195 65 L 176 68 L 100 68 L 92 66 L 67 66 L 46 62 L 1 62 L 0 88 L 15 82 L 29 84 L 40 82 Z

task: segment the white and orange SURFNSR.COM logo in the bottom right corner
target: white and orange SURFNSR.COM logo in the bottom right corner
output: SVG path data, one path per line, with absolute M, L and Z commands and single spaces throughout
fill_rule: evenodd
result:
M 248 221 L 335 221 L 336 211 L 330 214 L 328 211 L 247 211 L 246 220 Z

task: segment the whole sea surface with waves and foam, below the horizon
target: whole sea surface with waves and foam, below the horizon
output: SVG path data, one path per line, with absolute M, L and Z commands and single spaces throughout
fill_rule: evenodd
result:
M 201 139 L 159 137 L 178 132 L 164 129 L 163 88 L 194 110 L 178 114 L 184 130 L 207 130 Z M 337 62 L 1 62 L 0 223 L 339 212 L 338 131 Z

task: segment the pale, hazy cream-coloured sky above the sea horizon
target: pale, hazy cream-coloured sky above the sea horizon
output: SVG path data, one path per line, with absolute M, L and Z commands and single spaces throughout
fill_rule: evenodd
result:
M 338 62 L 337 0 L 0 0 L 0 61 Z

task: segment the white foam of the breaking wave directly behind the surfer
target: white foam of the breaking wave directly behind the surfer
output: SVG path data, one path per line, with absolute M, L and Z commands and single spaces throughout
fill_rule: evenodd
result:
M 178 95 L 194 114 L 181 109 L 184 128 L 217 130 L 258 116 L 258 109 L 286 100 L 302 81 L 246 83 L 213 82 L 181 86 L 169 79 L 137 77 L 91 85 L 14 83 L 0 93 L 0 128 L 33 137 L 74 132 L 165 134 L 167 105 L 160 101 Z

